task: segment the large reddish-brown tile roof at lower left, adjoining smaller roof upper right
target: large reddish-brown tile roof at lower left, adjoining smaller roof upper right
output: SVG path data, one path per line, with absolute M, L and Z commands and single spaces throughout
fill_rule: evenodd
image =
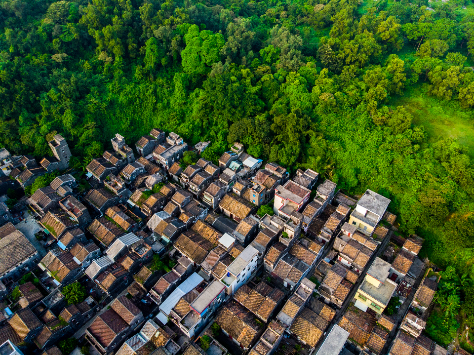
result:
M 103 346 L 108 347 L 128 324 L 112 308 L 97 316 L 87 330 Z

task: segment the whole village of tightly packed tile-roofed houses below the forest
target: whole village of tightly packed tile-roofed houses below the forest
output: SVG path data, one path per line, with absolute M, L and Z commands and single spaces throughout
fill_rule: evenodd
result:
M 116 134 L 87 172 L 59 134 L 40 161 L 0 150 L 1 355 L 62 355 L 72 338 L 74 355 L 468 354 L 423 333 L 439 270 L 390 199 L 238 142 L 216 165 L 210 143 L 155 128 L 134 151 Z

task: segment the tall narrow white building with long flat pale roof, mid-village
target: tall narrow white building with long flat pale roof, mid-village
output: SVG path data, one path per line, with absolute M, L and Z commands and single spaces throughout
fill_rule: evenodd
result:
M 258 250 L 249 245 L 227 267 L 226 274 L 221 278 L 221 281 L 227 286 L 227 294 L 233 295 L 241 285 L 249 280 L 257 268 L 257 255 Z

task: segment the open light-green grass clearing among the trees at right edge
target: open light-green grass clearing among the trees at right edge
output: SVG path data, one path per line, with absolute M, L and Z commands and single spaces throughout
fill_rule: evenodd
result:
M 413 115 L 413 123 L 425 128 L 429 142 L 456 139 L 474 158 L 474 110 L 461 108 L 457 101 L 428 96 L 423 83 L 405 91 L 403 96 L 395 97 L 390 105 L 403 105 Z

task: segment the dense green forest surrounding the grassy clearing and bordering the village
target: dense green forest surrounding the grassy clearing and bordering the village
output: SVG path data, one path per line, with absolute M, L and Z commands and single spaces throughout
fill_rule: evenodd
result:
M 58 132 L 82 169 L 158 127 L 377 191 L 445 270 L 426 331 L 446 345 L 474 326 L 474 157 L 394 103 L 472 127 L 473 51 L 465 0 L 0 0 L 0 146 L 41 157 Z

